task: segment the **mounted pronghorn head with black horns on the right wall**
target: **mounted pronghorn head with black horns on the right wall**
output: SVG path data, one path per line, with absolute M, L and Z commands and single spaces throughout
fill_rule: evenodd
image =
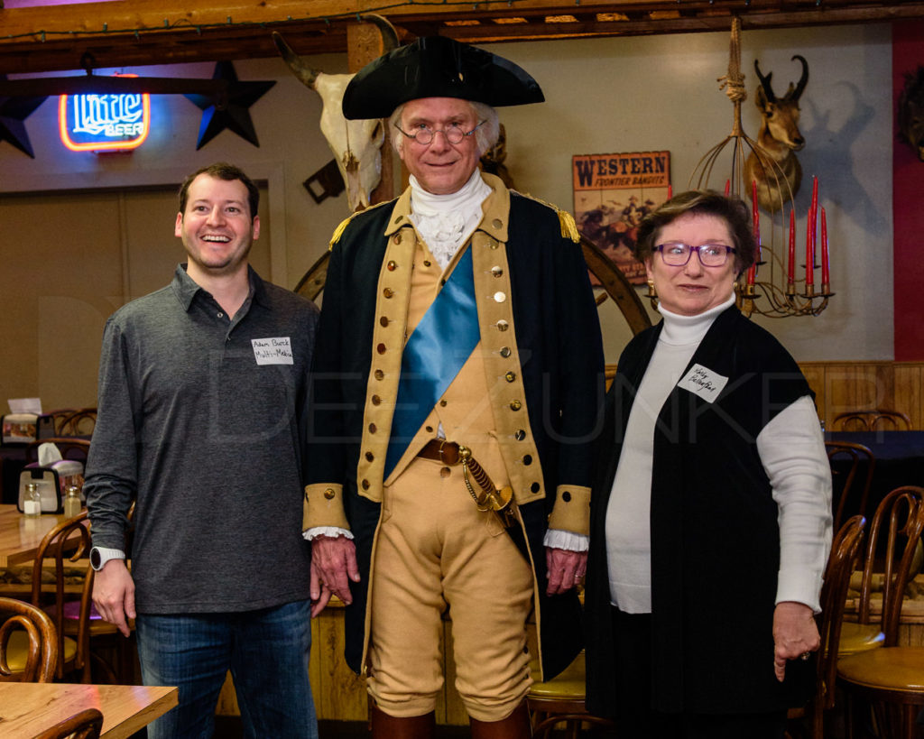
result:
M 799 98 L 808 83 L 808 62 L 800 55 L 793 56 L 802 63 L 802 77 L 782 98 L 773 94 L 771 79 L 760 73 L 760 66 L 754 60 L 754 70 L 760 79 L 756 103 L 760 110 L 759 148 L 752 151 L 745 164 L 748 188 L 752 180 L 757 181 L 758 202 L 769 212 L 783 208 L 787 200 L 796 197 L 802 182 L 802 166 L 796 159 L 796 151 L 806 145 L 806 139 L 799 132 Z

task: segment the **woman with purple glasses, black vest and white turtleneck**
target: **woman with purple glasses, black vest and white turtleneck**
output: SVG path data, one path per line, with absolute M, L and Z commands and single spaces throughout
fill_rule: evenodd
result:
M 607 395 L 588 707 L 628 737 L 782 737 L 814 676 L 831 546 L 813 394 L 736 309 L 756 253 L 743 202 L 680 194 L 646 216 L 637 253 L 663 321 L 626 346 Z

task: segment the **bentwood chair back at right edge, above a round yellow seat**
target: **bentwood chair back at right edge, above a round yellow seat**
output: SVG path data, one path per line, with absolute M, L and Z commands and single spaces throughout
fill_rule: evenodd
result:
M 861 624 L 870 623 L 874 575 L 881 575 L 885 647 L 894 647 L 898 642 L 902 599 L 908 580 L 913 576 L 911 565 L 922 530 L 924 488 L 910 485 L 896 488 L 881 500 L 869 527 L 857 619 Z

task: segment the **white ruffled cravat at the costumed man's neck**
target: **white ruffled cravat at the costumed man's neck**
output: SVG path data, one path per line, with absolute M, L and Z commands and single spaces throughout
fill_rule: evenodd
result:
M 411 223 L 443 269 L 480 223 L 481 203 L 491 192 L 477 169 L 461 189 L 449 195 L 427 192 L 417 177 L 410 176 Z

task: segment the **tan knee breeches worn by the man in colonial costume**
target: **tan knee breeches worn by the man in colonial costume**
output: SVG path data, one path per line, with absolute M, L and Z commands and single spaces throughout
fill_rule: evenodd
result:
M 468 714 L 499 721 L 517 708 L 532 683 L 532 571 L 494 515 L 475 507 L 461 466 L 418 458 L 385 488 L 371 586 L 368 686 L 380 709 L 435 708 L 447 606 Z

